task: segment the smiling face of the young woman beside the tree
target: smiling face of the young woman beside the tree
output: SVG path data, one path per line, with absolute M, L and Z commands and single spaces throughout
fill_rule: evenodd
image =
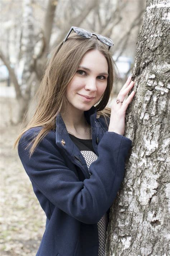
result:
M 108 63 L 104 55 L 98 50 L 88 51 L 66 89 L 71 107 L 89 110 L 103 95 L 107 78 Z

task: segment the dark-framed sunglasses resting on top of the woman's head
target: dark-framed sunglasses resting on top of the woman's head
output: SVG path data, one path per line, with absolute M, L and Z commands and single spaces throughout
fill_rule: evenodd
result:
M 69 37 L 72 30 L 74 30 L 74 32 L 77 33 L 77 35 L 82 36 L 84 38 L 90 38 L 93 35 L 95 35 L 98 40 L 100 40 L 101 42 L 103 42 L 104 44 L 109 46 L 108 50 L 110 50 L 110 47 L 113 46 L 113 41 L 111 39 L 109 39 L 108 37 L 102 36 L 102 35 L 96 35 L 95 33 L 91 33 L 88 30 L 86 30 L 84 28 L 79 28 L 79 27 L 71 27 L 69 32 L 67 33 L 63 43 L 67 40 L 67 38 Z

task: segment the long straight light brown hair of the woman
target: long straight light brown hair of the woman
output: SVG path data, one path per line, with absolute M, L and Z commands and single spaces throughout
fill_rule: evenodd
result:
M 30 156 L 33 154 L 38 143 L 44 138 L 49 130 L 55 129 L 56 116 L 60 113 L 62 104 L 68 104 L 65 97 L 67 85 L 75 75 L 77 68 L 84 55 L 92 49 L 99 50 L 108 62 L 108 82 L 104 94 L 95 104 L 98 116 L 102 115 L 105 120 L 109 117 L 110 109 L 105 108 L 110 94 L 113 90 L 114 61 L 108 51 L 108 46 L 96 39 L 95 36 L 85 39 L 76 34 L 70 35 L 63 44 L 63 41 L 49 54 L 49 60 L 44 69 L 44 76 L 37 90 L 34 100 L 38 99 L 36 111 L 28 122 L 25 129 L 18 135 L 14 148 L 21 136 L 30 128 L 42 126 L 39 134 L 32 140 Z M 29 145 L 28 145 L 29 146 Z

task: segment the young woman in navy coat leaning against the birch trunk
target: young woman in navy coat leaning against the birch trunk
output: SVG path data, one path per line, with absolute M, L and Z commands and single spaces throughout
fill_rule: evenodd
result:
M 75 33 L 71 33 L 74 31 Z M 71 35 L 70 35 L 71 33 Z M 71 27 L 50 54 L 18 153 L 47 216 L 37 256 L 103 256 L 109 207 L 124 175 L 129 77 L 112 109 L 112 40 Z

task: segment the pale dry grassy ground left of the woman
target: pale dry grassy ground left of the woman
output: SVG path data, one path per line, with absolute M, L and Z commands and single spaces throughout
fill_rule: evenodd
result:
M 34 195 L 18 152 L 13 150 L 14 140 L 20 130 L 20 125 L 11 122 L 16 101 L 9 98 L 0 100 L 0 255 L 35 256 L 45 229 L 46 217 Z

